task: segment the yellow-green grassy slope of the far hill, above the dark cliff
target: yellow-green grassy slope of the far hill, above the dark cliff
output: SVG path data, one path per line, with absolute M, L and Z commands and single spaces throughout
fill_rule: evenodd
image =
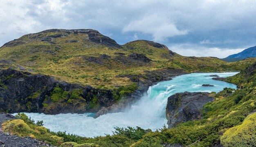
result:
M 42 41 L 43 37 L 60 34 L 61 37 L 52 37 L 50 42 Z M 130 79 L 119 75 L 140 75 L 145 70 L 167 67 L 182 68 L 187 72 L 238 71 L 243 68 L 240 65 L 234 66 L 237 63 L 227 63 L 213 57 L 183 57 L 168 48 L 156 48 L 144 40 L 129 42 L 121 48 L 108 47 L 91 42 L 86 33 L 40 32 L 24 35 L 12 43 L 14 45 L 0 48 L 0 60 L 8 61 L 9 65 L 96 88 L 127 86 L 132 83 Z M 131 53 L 144 54 L 152 61 L 124 64 L 117 60 L 118 53 L 124 53 L 126 57 Z M 110 58 L 102 59 L 102 55 Z M 88 61 L 91 58 L 100 60 Z

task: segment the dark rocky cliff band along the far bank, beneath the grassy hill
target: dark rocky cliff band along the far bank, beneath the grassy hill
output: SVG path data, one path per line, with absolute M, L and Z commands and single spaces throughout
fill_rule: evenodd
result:
M 47 75 L 33 75 L 13 69 L 0 70 L 0 111 L 39 112 L 45 114 L 98 112 L 97 116 L 119 112 L 134 103 L 148 90 L 153 82 L 169 80 L 184 74 L 183 70 L 165 69 L 148 71 L 147 80 L 140 81 L 126 76 L 137 83 L 137 90 L 123 99 L 115 99 L 119 91 L 97 89 L 92 86 L 58 81 Z M 155 79 L 153 77 L 159 77 Z

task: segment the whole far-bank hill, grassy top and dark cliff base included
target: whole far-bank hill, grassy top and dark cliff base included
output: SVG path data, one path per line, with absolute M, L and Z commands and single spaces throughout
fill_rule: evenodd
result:
M 184 57 L 147 40 L 120 45 L 92 29 L 45 30 L 0 47 L 0 111 L 99 116 L 134 103 L 155 82 L 240 71 L 254 61 Z

